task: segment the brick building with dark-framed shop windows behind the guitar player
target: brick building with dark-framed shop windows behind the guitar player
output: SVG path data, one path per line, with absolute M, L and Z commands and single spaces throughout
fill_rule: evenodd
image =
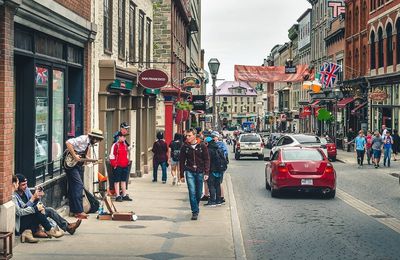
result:
M 90 0 L 0 1 L 2 231 L 14 230 L 13 173 L 44 186 L 46 205 L 66 196 L 65 140 L 91 128 L 90 15 Z

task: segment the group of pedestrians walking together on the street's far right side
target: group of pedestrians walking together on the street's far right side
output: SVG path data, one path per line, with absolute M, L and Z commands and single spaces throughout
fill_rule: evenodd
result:
M 393 160 L 397 161 L 396 156 L 400 150 L 400 136 L 396 129 L 393 130 L 392 134 L 385 125 L 382 125 L 382 134 L 379 131 L 372 133 L 368 130 L 367 135 L 365 135 L 364 131 L 360 130 L 358 135 L 354 136 L 354 132 L 350 128 L 347 137 L 349 139 L 347 151 L 349 152 L 351 144 L 354 144 L 359 168 L 364 165 L 365 154 L 367 155 L 368 165 L 373 164 L 375 168 L 379 168 L 382 151 L 383 166 L 390 167 L 392 155 Z

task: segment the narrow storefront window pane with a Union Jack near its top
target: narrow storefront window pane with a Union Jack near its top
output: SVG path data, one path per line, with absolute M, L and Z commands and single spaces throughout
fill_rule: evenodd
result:
M 47 171 L 46 162 L 48 155 L 48 129 L 49 129 L 49 70 L 35 67 L 35 168 L 42 168 L 36 176 Z

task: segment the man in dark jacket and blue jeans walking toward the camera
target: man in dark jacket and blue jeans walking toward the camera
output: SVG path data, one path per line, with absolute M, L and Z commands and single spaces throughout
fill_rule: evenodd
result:
M 198 142 L 196 131 L 186 131 L 186 142 L 183 144 L 179 158 L 181 178 L 186 175 L 189 190 L 191 220 L 197 220 L 199 215 L 199 202 L 201 199 L 203 179 L 208 180 L 210 170 L 210 157 L 207 146 Z

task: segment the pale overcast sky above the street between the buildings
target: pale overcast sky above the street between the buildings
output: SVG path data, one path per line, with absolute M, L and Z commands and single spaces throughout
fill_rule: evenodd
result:
M 205 69 L 217 58 L 218 78 L 227 81 L 235 64 L 261 65 L 276 44 L 289 41 L 289 28 L 311 8 L 307 0 L 201 0 L 201 6 Z

